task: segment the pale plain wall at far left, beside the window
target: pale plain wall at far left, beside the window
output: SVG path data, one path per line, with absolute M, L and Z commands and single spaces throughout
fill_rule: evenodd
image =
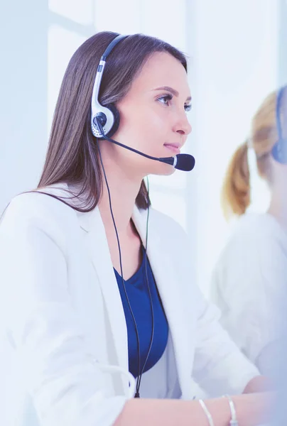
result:
M 0 214 L 38 183 L 47 135 L 48 1 L 2 1 Z

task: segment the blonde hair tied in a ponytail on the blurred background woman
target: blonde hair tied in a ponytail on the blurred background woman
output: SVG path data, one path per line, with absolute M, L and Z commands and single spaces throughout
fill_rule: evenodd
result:
M 286 86 L 287 87 L 287 86 Z M 287 90 L 284 87 L 283 97 Z M 224 177 L 221 204 L 224 216 L 244 214 L 250 204 L 250 172 L 248 148 L 254 149 L 257 170 L 261 178 L 272 183 L 271 149 L 278 141 L 276 129 L 277 91 L 269 94 L 251 121 L 251 135 L 232 156 Z

